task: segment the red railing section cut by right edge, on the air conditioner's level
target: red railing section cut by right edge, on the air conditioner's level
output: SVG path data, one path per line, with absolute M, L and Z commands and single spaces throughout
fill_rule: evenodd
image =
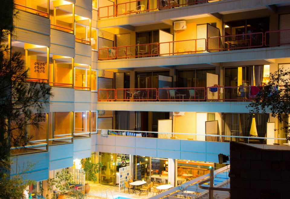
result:
M 265 32 L 265 46 L 289 45 L 290 29 Z

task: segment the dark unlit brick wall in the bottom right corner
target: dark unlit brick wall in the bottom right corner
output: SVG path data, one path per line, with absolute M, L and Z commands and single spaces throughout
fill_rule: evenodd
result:
M 290 150 L 230 142 L 230 198 L 290 198 Z

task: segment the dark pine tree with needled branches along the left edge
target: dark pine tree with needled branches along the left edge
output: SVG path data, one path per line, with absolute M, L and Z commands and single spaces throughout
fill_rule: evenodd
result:
M 31 140 L 27 127 L 39 128 L 37 115 L 52 96 L 43 82 L 31 82 L 20 52 L 9 48 L 13 38 L 14 0 L 0 0 L 0 167 L 9 168 L 10 148 L 24 147 Z M 2 172 L 0 172 L 1 174 Z

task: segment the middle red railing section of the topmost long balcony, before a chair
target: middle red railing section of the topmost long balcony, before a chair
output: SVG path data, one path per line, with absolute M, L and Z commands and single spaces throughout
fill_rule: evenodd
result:
M 146 3 L 147 5 L 144 5 Z M 144 13 L 148 11 L 157 10 L 157 4 L 158 3 L 156 3 L 156 7 L 153 8 L 153 5 L 150 5 L 150 1 L 144 1 L 144 0 L 119 3 L 117 4 L 116 15 L 121 16 L 121 15 Z

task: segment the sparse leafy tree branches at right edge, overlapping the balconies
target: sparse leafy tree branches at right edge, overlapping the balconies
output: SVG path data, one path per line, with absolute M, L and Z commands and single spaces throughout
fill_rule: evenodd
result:
M 276 117 L 284 123 L 281 130 L 284 130 L 285 137 L 289 140 L 290 71 L 279 68 L 279 70 L 270 73 L 268 83 L 260 88 L 256 98 L 247 108 L 250 109 L 250 113 L 266 113 L 269 110 L 272 117 Z

